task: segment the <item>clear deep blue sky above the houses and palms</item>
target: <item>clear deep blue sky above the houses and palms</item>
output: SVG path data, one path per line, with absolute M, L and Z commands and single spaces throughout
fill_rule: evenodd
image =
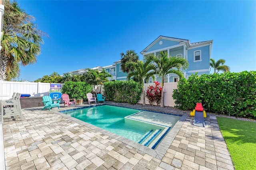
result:
M 18 80 L 108 66 L 120 53 L 140 52 L 158 36 L 213 40 L 211 58 L 231 72 L 256 70 L 256 1 L 18 0 L 46 32 L 36 64 Z M 211 71 L 212 72 L 212 71 Z

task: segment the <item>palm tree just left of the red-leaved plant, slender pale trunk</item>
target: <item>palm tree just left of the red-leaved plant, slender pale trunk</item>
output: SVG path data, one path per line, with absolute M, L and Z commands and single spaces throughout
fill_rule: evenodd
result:
M 145 106 L 145 90 L 144 83 L 148 82 L 149 78 L 152 77 L 154 80 L 154 74 L 156 74 L 156 66 L 150 63 L 151 60 L 145 60 L 145 62 L 127 62 L 128 67 L 132 66 L 134 71 L 130 72 L 127 76 L 127 80 L 130 80 L 132 76 L 136 76 L 139 82 L 142 84 L 142 105 Z

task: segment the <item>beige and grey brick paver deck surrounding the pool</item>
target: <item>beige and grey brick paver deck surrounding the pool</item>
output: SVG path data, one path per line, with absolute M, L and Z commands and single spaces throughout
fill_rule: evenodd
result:
M 214 116 L 202 128 L 183 114 L 152 150 L 58 112 L 67 109 L 23 109 L 22 121 L 5 119 L 6 170 L 234 170 Z

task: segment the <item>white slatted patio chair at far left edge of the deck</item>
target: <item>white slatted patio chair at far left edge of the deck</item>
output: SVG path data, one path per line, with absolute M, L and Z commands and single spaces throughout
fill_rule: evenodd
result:
M 4 122 L 4 118 L 6 117 L 12 117 L 12 116 L 20 116 L 20 119 L 22 120 L 22 110 L 20 106 L 20 93 L 17 93 L 15 95 L 15 100 L 9 100 L 7 102 L 1 101 L 1 120 L 2 123 Z M 12 107 L 4 108 L 5 105 L 10 105 Z

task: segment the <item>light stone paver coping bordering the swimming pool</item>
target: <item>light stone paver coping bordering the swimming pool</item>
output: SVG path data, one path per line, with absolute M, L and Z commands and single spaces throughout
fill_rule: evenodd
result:
M 70 110 L 78 110 L 78 109 L 82 109 L 82 108 L 88 108 L 88 107 L 95 107 L 95 106 L 101 106 L 101 105 L 110 105 L 110 106 L 116 106 L 116 105 L 112 105 L 112 104 L 97 104 L 97 105 L 92 105 L 92 106 L 85 106 L 85 107 L 80 107 L 80 108 L 75 108 L 75 109 L 70 109 Z M 124 107 L 124 106 L 118 106 L 118 107 Z M 128 108 L 128 107 L 124 107 L 124 108 Z M 142 110 L 142 109 L 137 109 L 137 108 L 132 108 L 132 109 L 136 109 L 136 110 Z M 123 136 L 120 136 L 118 134 L 109 132 L 107 130 L 104 130 L 102 128 L 99 128 L 97 126 L 94 126 L 92 124 L 86 123 L 82 120 L 79 120 L 77 118 L 74 118 L 72 116 L 69 116 L 67 114 L 63 114 L 63 112 L 65 111 L 54 111 L 54 113 L 61 115 L 65 118 L 69 118 L 70 120 L 73 120 L 74 122 L 77 122 L 79 124 L 82 124 L 88 128 L 91 128 L 93 130 L 96 130 L 102 134 L 108 135 L 116 140 L 119 140 L 120 142 L 123 142 L 125 144 L 128 144 L 142 152 L 145 152 L 147 154 L 149 154 L 150 156 L 153 156 L 155 158 L 158 159 L 162 159 L 164 157 L 164 154 L 167 152 L 168 148 L 170 147 L 170 145 L 172 144 L 172 141 L 174 140 L 174 138 L 176 137 L 176 135 L 178 134 L 183 122 L 186 120 L 186 118 L 188 117 L 188 114 L 182 114 L 182 116 L 180 116 L 180 120 L 178 120 L 178 122 L 176 122 L 176 124 L 168 131 L 168 133 L 164 136 L 164 138 L 158 143 L 158 145 L 156 146 L 155 149 L 151 149 L 147 146 L 144 146 L 142 144 L 139 144 L 137 142 L 134 142 L 130 139 L 124 138 Z M 157 112 L 157 111 L 151 111 L 151 110 L 144 110 L 144 111 L 149 111 L 149 112 Z M 164 112 L 157 112 L 157 113 L 164 113 Z M 169 113 L 168 113 L 169 114 Z M 174 114 L 174 115 L 178 115 L 178 114 Z

